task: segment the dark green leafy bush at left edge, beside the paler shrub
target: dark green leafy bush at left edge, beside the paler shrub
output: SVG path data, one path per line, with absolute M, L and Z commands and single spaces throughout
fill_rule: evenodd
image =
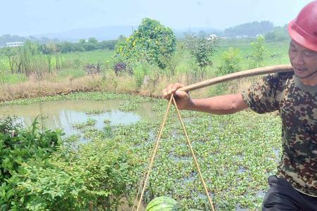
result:
M 61 145 L 61 131 L 39 132 L 37 120 L 30 129 L 16 123 L 16 117 L 0 120 L 0 210 L 20 210 L 27 193 L 17 190 L 18 172 L 30 160 L 42 162 Z

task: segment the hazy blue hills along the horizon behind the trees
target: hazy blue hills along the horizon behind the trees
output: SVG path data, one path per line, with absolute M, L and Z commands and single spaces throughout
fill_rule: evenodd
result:
M 256 34 L 266 34 L 267 32 L 273 31 L 273 23 L 268 21 L 252 23 L 244 23 L 234 27 L 229 27 L 225 30 L 217 30 L 211 27 L 189 27 L 185 29 L 172 29 L 176 38 L 185 38 L 185 32 L 199 34 L 218 34 L 221 37 L 236 37 L 236 36 L 246 36 L 255 37 Z M 37 40 L 40 43 L 47 43 L 48 41 L 79 41 L 80 39 L 89 39 L 94 37 L 99 41 L 103 40 L 115 40 L 118 39 L 120 35 L 129 37 L 134 30 L 137 30 L 137 26 L 107 26 L 107 27 L 97 27 L 97 28 L 82 28 L 74 29 L 66 32 L 56 32 L 49 34 L 36 34 L 30 36 L 27 39 Z M 0 46 L 4 45 L 6 41 L 24 41 L 24 37 L 12 36 L 5 34 L 0 37 Z

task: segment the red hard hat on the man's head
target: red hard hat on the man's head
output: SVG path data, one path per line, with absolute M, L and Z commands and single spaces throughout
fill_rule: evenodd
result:
M 290 37 L 306 49 L 317 51 L 317 0 L 304 6 L 288 25 Z

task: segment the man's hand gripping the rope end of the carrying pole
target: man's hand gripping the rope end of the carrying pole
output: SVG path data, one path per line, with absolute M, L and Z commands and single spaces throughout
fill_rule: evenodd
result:
M 181 110 L 190 110 L 193 108 L 194 103 L 190 98 L 189 94 L 186 91 L 179 91 L 181 87 L 184 87 L 183 84 L 176 83 L 176 84 L 169 84 L 166 89 L 163 89 L 163 96 L 166 100 L 170 100 L 170 96 L 174 94 L 174 98 L 176 103 L 178 104 L 178 108 Z

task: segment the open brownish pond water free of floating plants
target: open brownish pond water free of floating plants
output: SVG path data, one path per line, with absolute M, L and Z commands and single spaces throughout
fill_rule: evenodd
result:
M 108 101 L 50 101 L 27 106 L 0 106 L 0 117 L 18 116 L 23 124 L 31 125 L 35 118 L 42 114 L 43 125 L 47 129 L 63 129 L 66 136 L 77 134 L 73 124 L 84 123 L 87 120 L 97 120 L 95 128 L 102 129 L 104 120 L 111 125 L 133 124 L 140 120 L 157 121 L 157 114 L 151 108 L 153 103 L 141 103 L 139 109 L 133 112 L 123 112 L 118 108 L 123 100 Z M 93 111 L 98 111 L 94 114 Z M 40 118 L 38 119 L 39 122 Z

